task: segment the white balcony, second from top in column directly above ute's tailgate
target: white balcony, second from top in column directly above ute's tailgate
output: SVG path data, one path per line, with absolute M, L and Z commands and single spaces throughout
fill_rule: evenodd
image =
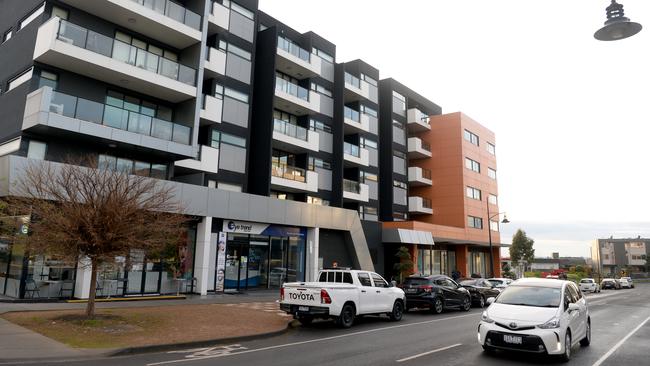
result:
M 279 77 L 276 77 L 275 81 L 274 103 L 277 107 L 296 116 L 323 113 L 331 117 L 334 111 L 332 98 Z

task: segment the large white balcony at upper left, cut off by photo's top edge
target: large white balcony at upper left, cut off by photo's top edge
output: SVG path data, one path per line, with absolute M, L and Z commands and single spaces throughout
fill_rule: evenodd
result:
M 201 16 L 170 0 L 62 0 L 177 49 L 201 42 Z

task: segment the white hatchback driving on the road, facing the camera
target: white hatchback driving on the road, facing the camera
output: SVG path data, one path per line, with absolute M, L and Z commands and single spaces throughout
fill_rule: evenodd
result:
M 478 342 L 496 349 L 571 358 L 571 348 L 591 342 L 587 302 L 570 281 L 520 279 L 496 298 L 481 316 Z

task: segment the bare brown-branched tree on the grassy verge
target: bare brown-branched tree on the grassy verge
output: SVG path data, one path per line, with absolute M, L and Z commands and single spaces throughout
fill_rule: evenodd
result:
M 187 218 L 164 181 L 98 169 L 96 158 L 30 163 L 12 203 L 29 212 L 28 249 L 91 269 L 86 316 L 95 315 L 100 265 L 132 249 L 161 252 L 178 244 Z

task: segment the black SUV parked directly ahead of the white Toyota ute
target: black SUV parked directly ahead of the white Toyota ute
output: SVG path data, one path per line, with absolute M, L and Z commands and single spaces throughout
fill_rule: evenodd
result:
M 445 275 L 407 277 L 402 285 L 406 293 L 406 309 L 426 307 L 434 314 L 444 309 L 469 311 L 472 297 L 469 291 Z

